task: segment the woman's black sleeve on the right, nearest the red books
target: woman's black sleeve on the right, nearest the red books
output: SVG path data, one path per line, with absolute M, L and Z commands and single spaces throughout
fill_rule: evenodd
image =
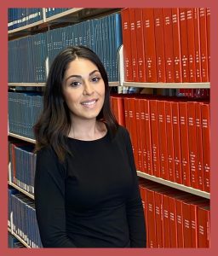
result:
M 127 218 L 129 221 L 130 244 L 131 247 L 146 247 L 146 224 L 144 210 L 142 207 L 135 160 L 128 131 L 125 131 L 125 141 L 129 156 L 129 164 L 131 166 L 133 176 L 133 186 L 129 193 L 129 201 L 127 202 L 126 207 Z

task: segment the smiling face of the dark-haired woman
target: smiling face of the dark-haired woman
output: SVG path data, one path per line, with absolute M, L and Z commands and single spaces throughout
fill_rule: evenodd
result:
M 95 64 L 77 58 L 69 64 L 63 94 L 73 119 L 96 119 L 105 100 L 105 83 Z

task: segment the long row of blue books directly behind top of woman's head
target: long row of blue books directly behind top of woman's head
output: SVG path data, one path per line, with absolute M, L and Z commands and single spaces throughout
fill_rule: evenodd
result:
M 120 14 L 9 41 L 9 82 L 45 82 L 49 67 L 60 50 L 80 44 L 99 55 L 109 81 L 118 81 L 118 49 L 122 43 Z

